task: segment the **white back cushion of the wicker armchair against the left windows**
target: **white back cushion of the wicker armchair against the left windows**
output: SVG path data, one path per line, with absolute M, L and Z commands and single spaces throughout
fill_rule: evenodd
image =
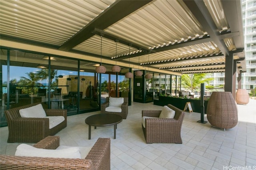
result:
M 38 104 L 36 106 L 31 106 L 25 109 L 20 109 L 21 117 L 36 117 L 36 118 L 44 118 L 46 117 L 46 113 L 42 104 Z

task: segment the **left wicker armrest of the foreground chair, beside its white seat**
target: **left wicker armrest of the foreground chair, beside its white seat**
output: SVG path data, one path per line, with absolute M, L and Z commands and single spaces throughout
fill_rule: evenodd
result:
M 40 149 L 56 149 L 60 146 L 59 136 L 48 136 L 34 145 L 35 148 Z

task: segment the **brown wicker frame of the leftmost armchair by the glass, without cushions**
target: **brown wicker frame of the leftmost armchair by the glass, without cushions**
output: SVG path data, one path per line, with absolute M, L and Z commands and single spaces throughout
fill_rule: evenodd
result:
M 4 111 L 9 130 L 8 143 L 37 143 L 49 135 L 55 135 L 67 126 L 67 110 L 65 109 L 44 109 L 47 116 L 64 116 L 65 118 L 62 123 L 52 129 L 49 129 L 48 118 L 20 117 L 20 109 L 37 104 L 40 103 L 29 104 Z

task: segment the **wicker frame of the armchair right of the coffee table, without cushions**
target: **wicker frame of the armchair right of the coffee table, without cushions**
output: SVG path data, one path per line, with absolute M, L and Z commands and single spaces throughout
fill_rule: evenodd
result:
M 142 110 L 142 117 L 155 117 L 145 119 L 145 128 L 142 125 L 146 143 L 182 143 L 181 126 L 184 119 L 184 111 L 167 105 L 175 111 L 173 119 L 159 118 L 161 110 Z

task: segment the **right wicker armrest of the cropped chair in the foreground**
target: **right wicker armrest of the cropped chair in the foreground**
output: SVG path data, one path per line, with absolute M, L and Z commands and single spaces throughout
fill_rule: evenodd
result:
M 110 170 L 110 138 L 99 138 L 85 159 L 92 160 L 96 170 Z

